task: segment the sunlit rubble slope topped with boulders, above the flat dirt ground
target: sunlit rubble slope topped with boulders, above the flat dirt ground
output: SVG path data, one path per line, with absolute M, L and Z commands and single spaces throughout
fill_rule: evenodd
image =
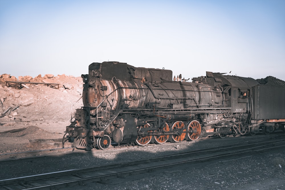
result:
M 21 89 L 7 87 L 5 81 L 22 81 L 26 83 Z M 59 89 L 33 83 L 57 83 Z M 70 107 L 80 99 L 83 90 L 81 77 L 46 74 L 20 76 L 18 79 L 9 74 L 0 75 L 0 118 L 1 120 L 40 120 L 43 118 L 70 119 Z M 79 101 L 80 103 L 82 101 Z M 77 107 L 74 107 L 74 110 Z M 63 114 L 67 116 L 64 117 Z M 58 117 L 58 116 L 61 117 Z

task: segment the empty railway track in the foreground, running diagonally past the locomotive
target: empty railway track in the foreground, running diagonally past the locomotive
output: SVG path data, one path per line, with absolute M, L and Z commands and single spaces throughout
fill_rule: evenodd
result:
M 58 171 L 40 175 L 32 175 L 0 181 L 2 189 L 50 189 L 66 186 L 83 185 L 84 183 L 99 182 L 118 177 L 137 175 L 154 170 L 177 166 L 178 164 L 191 164 L 195 162 L 214 160 L 224 157 L 249 155 L 268 149 L 285 147 L 285 138 L 271 140 L 272 137 L 207 148 L 203 150 L 188 151 L 168 156 L 120 162 L 115 164 L 100 165 L 67 171 Z

